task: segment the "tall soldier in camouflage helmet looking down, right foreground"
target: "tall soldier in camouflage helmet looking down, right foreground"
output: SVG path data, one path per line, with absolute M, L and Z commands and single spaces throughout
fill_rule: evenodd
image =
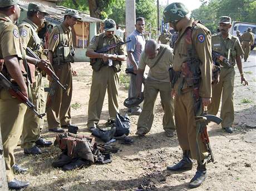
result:
M 178 31 L 179 37 L 174 44 L 174 63 L 173 69 L 179 74 L 179 78 L 173 84 L 174 101 L 174 116 L 176 131 L 180 147 L 183 150 L 183 159 L 174 166 L 167 167 L 169 170 L 190 170 L 192 168 L 192 160 L 196 159 L 198 167 L 196 173 L 189 183 L 190 188 L 199 187 L 206 178 L 206 157 L 208 152 L 200 141 L 201 133 L 196 133 L 198 129 L 198 123 L 195 121 L 195 115 L 201 115 L 203 107 L 207 106 L 211 102 L 211 33 L 208 28 L 204 27 L 199 22 L 194 22 L 193 18 L 189 18 L 188 8 L 183 3 L 171 3 L 164 10 L 164 22 L 169 22 L 170 26 Z M 192 78 L 198 78 L 199 83 L 190 84 L 191 78 L 186 74 L 186 62 L 189 58 L 189 52 L 191 51 L 191 57 L 198 60 L 191 64 L 193 71 L 197 72 L 196 76 Z M 192 59 L 192 58 L 191 58 Z M 189 68 L 188 68 L 189 69 Z M 191 69 L 189 69 L 191 71 Z M 194 81 L 193 81 L 194 82 Z M 199 99 L 201 107 L 194 108 L 195 99 L 193 98 L 193 87 L 199 89 Z M 195 109 L 195 110 L 194 110 Z M 199 139 L 197 141 L 197 138 Z M 199 148 L 196 147 L 198 143 Z

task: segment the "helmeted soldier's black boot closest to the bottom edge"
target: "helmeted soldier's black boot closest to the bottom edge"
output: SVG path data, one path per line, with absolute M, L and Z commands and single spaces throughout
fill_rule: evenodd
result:
M 199 187 L 206 178 L 206 163 L 203 165 L 199 164 L 198 162 L 198 168 L 196 168 L 196 173 L 194 177 L 190 180 L 189 188 L 196 188 Z

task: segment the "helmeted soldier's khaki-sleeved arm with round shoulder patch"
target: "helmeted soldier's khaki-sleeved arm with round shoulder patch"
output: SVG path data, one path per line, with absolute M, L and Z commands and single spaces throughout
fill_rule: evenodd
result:
M 201 82 L 199 96 L 202 98 L 211 98 L 211 33 L 203 28 L 196 29 L 192 34 L 196 53 L 201 61 Z

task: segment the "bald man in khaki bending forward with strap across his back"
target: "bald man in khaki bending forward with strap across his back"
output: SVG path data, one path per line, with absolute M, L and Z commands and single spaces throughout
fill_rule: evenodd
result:
M 171 94 L 169 67 L 173 64 L 173 49 L 165 44 L 157 44 L 154 40 L 146 43 L 141 53 L 137 72 L 137 92 L 141 92 L 142 78 L 146 65 L 149 74 L 144 89 L 144 104 L 137 123 L 137 133 L 145 135 L 152 127 L 155 115 L 155 101 L 160 92 L 161 103 L 164 105 L 163 127 L 168 137 L 173 137 L 175 130 L 173 114 L 174 102 Z

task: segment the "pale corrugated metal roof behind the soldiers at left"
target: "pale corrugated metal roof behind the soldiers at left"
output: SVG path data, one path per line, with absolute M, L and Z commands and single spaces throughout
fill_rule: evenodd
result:
M 20 2 L 19 6 L 22 9 L 24 9 L 25 11 L 28 10 L 28 3 L 27 2 Z M 46 16 L 46 18 L 50 18 L 51 20 L 56 19 L 60 22 L 62 22 L 63 19 L 64 19 L 64 14 L 63 13 L 66 11 L 66 9 L 68 9 L 67 7 L 62 7 L 62 6 L 56 6 L 56 7 L 45 6 L 45 8 L 46 8 L 46 12 L 50 14 L 50 16 Z M 90 17 L 88 14 L 83 13 L 81 11 L 78 11 L 78 13 L 79 13 L 79 16 L 82 18 L 81 19 L 82 22 L 87 22 L 87 23 L 104 22 L 101 19 Z

